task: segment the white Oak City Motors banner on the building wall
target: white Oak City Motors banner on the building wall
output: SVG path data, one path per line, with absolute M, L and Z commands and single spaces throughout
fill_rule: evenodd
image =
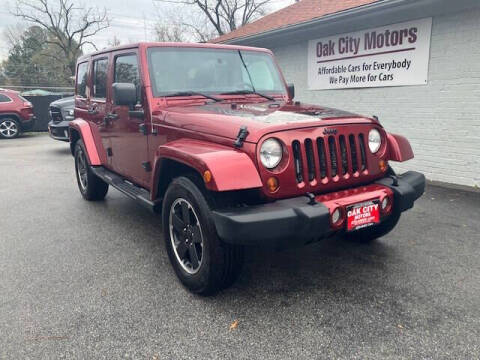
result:
M 432 18 L 308 42 L 310 90 L 424 85 Z

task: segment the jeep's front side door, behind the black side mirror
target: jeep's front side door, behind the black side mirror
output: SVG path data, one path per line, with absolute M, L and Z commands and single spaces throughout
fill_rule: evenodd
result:
M 142 115 L 141 68 L 137 49 L 120 50 L 113 53 L 112 83 L 131 83 L 137 89 L 137 104 L 134 108 L 112 103 L 110 131 L 112 132 L 113 170 L 135 183 L 148 187 L 148 144 L 147 136 L 140 130 L 144 126 Z M 133 111 L 135 110 L 135 111 Z

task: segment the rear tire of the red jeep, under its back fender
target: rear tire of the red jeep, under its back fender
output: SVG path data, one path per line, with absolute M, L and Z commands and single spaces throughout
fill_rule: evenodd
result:
M 93 173 L 82 140 L 76 142 L 74 154 L 78 189 L 83 198 L 88 201 L 103 200 L 108 192 L 108 184 Z

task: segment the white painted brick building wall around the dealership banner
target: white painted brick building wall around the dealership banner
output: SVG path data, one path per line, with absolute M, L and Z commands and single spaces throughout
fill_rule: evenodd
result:
M 272 49 L 296 100 L 378 115 L 412 144 L 415 159 L 392 164 L 400 172 L 480 186 L 480 10 L 433 18 L 427 85 L 310 91 L 307 43 L 320 37 Z

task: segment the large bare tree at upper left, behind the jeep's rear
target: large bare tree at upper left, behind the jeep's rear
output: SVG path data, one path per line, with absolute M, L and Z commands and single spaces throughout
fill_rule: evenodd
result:
M 46 43 L 57 51 L 46 56 L 58 62 L 66 61 L 70 75 L 86 44 L 95 44 L 92 37 L 109 26 L 106 9 L 75 6 L 73 0 L 16 0 L 12 14 L 46 30 Z

